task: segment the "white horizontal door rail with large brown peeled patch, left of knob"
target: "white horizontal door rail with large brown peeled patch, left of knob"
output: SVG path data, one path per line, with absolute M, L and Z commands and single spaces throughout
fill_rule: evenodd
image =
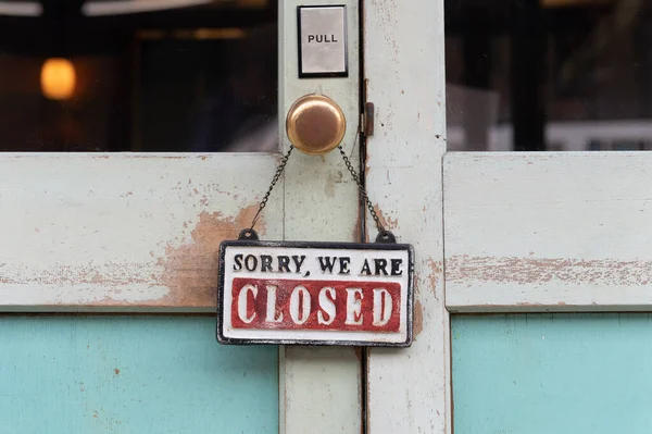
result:
M 0 311 L 214 311 L 273 154 L 0 156 Z M 261 233 L 279 236 L 272 200 Z

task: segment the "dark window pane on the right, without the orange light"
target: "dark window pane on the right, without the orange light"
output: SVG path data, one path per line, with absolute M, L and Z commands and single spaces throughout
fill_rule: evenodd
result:
M 651 0 L 447 0 L 449 149 L 652 149 Z

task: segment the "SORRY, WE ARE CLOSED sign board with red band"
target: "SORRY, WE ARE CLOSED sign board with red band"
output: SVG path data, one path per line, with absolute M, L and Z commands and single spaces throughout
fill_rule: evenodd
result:
M 412 246 L 224 241 L 217 340 L 406 347 Z

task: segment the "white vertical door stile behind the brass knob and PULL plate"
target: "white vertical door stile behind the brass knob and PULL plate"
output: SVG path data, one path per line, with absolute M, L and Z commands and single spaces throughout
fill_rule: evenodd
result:
M 298 78 L 297 7 L 347 4 L 349 29 L 348 78 Z M 358 165 L 359 149 L 353 141 L 359 113 L 359 18 L 358 1 L 284 0 L 279 16 L 285 21 L 280 35 L 280 67 L 284 77 L 281 139 L 285 114 L 301 96 L 321 92 L 343 110 L 348 128 L 346 151 Z M 358 189 L 336 151 L 310 157 L 294 150 L 285 175 L 285 239 L 359 240 Z M 353 348 L 281 348 L 281 432 L 355 433 L 361 431 L 361 371 Z

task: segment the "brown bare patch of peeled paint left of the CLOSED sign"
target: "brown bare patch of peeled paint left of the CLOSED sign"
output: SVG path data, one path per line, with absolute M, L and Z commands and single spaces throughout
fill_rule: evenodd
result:
M 220 243 L 237 239 L 239 232 L 251 224 L 258 204 L 240 210 L 236 216 L 220 212 L 202 212 L 190 233 L 191 241 L 178 247 L 167 246 L 165 257 L 159 259 L 163 273 L 158 283 L 170 288 L 170 294 L 153 305 L 213 307 L 217 290 L 217 255 Z M 264 234 L 264 222 L 256 226 Z

